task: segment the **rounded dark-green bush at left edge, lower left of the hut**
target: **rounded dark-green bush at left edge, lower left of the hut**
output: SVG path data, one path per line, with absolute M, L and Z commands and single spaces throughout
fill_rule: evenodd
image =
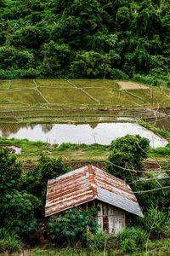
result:
M 3 194 L 3 201 L 0 204 L 3 218 L 1 225 L 8 231 L 14 231 L 20 237 L 28 239 L 37 229 L 34 210 L 38 204 L 36 197 L 17 190 L 11 190 L 10 194 Z

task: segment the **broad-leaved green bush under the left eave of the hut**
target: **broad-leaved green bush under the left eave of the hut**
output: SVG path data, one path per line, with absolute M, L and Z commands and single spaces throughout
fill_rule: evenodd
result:
M 70 209 L 58 217 L 50 218 L 48 230 L 57 242 L 75 244 L 77 241 L 85 241 L 87 227 L 93 234 L 99 227 L 95 219 L 97 212 L 94 207 L 88 208 L 87 212 L 77 208 Z

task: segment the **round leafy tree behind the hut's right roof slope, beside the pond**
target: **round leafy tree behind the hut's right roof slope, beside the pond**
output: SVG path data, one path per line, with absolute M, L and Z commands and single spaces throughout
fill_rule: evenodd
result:
M 141 172 L 129 172 L 129 170 L 144 171 L 142 160 L 147 157 L 150 148 L 149 140 L 139 135 L 117 138 L 111 142 L 109 156 L 105 171 L 116 177 L 123 178 L 127 183 L 143 176 Z M 115 166 L 114 166 L 115 165 Z

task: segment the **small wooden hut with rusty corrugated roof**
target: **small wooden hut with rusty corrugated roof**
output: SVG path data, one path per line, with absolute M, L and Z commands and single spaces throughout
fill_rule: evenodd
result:
M 45 216 L 71 207 L 99 206 L 98 222 L 108 234 L 121 231 L 125 214 L 143 217 L 132 189 L 123 180 L 95 166 L 84 166 L 48 180 Z

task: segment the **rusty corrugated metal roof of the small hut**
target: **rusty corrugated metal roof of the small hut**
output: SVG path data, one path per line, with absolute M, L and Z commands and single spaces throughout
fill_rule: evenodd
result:
M 143 217 L 130 186 L 95 166 L 84 166 L 48 180 L 45 216 L 98 199 Z

